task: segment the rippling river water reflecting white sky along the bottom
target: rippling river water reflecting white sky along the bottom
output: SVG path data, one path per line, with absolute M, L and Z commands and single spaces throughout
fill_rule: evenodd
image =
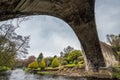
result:
M 0 72 L 1 73 L 1 72 Z M 54 75 L 37 75 L 26 73 L 22 69 L 16 69 L 0 74 L 0 80 L 109 80 L 97 78 L 77 78 L 77 77 L 64 77 Z

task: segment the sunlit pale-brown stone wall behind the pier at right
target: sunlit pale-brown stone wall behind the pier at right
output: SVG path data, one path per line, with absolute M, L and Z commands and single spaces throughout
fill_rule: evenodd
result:
M 119 64 L 119 58 L 117 53 L 112 49 L 112 47 L 104 42 L 100 42 L 102 53 L 105 59 L 106 67 L 112 67 Z

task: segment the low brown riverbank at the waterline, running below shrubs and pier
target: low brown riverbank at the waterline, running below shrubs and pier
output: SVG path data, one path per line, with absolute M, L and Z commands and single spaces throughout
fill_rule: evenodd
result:
M 99 72 L 87 72 L 85 69 L 77 69 L 77 68 L 64 68 L 57 71 L 38 71 L 37 74 L 46 75 L 58 75 L 58 76 L 66 76 L 66 77 L 97 77 L 97 78 L 109 78 L 112 76 L 110 72 L 107 70 L 100 70 Z

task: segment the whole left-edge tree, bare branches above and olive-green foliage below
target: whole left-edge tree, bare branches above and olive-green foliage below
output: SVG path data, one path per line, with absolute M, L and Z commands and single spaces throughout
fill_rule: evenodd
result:
M 21 36 L 15 32 L 19 23 L 24 21 L 23 18 L 19 20 L 16 26 L 12 23 L 0 25 L 0 66 L 12 67 L 16 58 L 28 54 L 30 36 Z

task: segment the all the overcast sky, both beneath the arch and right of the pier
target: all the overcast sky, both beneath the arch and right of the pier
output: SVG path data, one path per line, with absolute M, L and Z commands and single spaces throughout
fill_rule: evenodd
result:
M 99 39 L 107 42 L 107 34 L 120 34 L 120 0 L 96 0 L 95 17 Z M 60 55 L 65 47 L 70 45 L 80 48 L 80 42 L 63 20 L 47 15 L 30 17 L 30 20 L 20 24 L 16 33 L 30 35 L 29 54 L 38 56 Z

